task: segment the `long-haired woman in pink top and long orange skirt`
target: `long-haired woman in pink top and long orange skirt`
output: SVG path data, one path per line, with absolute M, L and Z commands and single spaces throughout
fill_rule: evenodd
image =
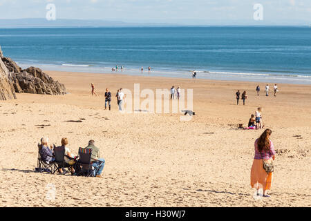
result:
M 272 131 L 266 129 L 255 141 L 255 156 L 251 170 L 251 186 L 256 188 L 256 195 L 269 198 L 267 191 L 271 189 L 273 180 L 273 162 L 275 160 L 274 145 L 270 140 Z M 264 169 L 266 168 L 266 169 Z M 259 190 L 263 189 L 263 195 Z

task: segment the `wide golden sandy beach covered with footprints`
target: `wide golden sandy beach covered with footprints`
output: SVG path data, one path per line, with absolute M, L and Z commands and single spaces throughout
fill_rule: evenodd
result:
M 278 84 L 276 97 L 254 82 L 46 71 L 64 96 L 17 94 L 0 102 L 0 206 L 311 206 L 311 86 Z M 91 96 L 91 82 L 100 96 Z M 194 89 L 191 121 L 178 114 L 117 111 L 118 88 Z M 272 88 L 273 84 L 270 84 Z M 104 90 L 113 95 L 104 111 Z M 247 90 L 236 105 L 236 90 Z M 238 129 L 263 107 L 276 148 L 271 198 L 254 199 L 250 170 L 263 130 Z M 66 122 L 83 119 L 82 122 Z M 75 155 L 95 140 L 103 178 L 35 173 L 37 143 L 67 137 Z M 46 198 L 48 186 L 56 198 Z

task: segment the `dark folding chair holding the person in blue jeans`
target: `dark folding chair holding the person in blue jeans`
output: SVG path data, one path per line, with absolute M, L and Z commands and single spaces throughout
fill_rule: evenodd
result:
M 93 167 L 91 163 L 92 149 L 79 148 L 79 160 L 75 163 L 76 175 L 84 175 L 87 177 L 95 176 L 97 167 Z

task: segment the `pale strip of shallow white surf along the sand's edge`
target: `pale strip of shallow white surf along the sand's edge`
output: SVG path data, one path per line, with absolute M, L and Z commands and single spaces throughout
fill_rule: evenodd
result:
M 37 64 L 19 64 L 21 68 L 28 68 L 30 66 L 36 66 L 42 70 L 61 71 L 61 72 L 75 72 L 75 73 L 99 73 L 99 74 L 115 74 L 115 75 L 132 75 L 132 76 L 147 76 L 147 77 L 173 77 L 192 79 L 191 70 L 169 70 L 167 68 L 157 68 L 144 70 L 143 72 L 139 68 L 124 68 L 124 70 L 117 70 L 112 72 L 112 67 L 87 65 L 87 64 L 59 64 L 59 65 L 37 65 Z M 151 67 L 152 68 L 152 67 Z M 274 84 L 301 84 L 311 85 L 310 75 L 301 75 L 298 73 L 292 75 L 274 74 L 272 73 L 243 73 L 243 72 L 227 72 L 226 70 L 208 71 L 208 70 L 196 70 L 196 79 L 208 79 L 208 80 L 224 80 L 224 81 L 245 81 L 245 82 L 266 82 Z

